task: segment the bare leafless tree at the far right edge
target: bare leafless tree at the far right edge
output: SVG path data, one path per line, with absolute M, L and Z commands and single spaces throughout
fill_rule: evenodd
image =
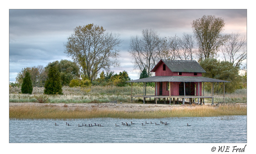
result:
M 232 33 L 228 41 L 221 46 L 221 52 L 225 61 L 233 63 L 235 67 L 240 67 L 242 61 L 247 59 L 247 40 L 240 37 L 239 33 Z

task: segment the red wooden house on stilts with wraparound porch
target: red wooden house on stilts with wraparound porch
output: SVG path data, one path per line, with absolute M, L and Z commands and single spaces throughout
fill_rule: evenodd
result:
M 204 98 L 211 98 L 212 104 L 215 97 L 225 97 L 225 82 L 224 80 L 218 80 L 215 78 L 202 77 L 202 73 L 206 71 L 196 62 L 196 61 L 180 61 L 180 60 L 160 60 L 158 64 L 151 70 L 155 72 L 155 76 L 149 78 L 141 78 L 138 80 L 132 80 L 128 82 L 143 82 L 144 92 L 142 96 L 132 96 L 132 86 L 131 86 L 131 99 L 133 97 L 143 97 L 143 102 L 145 103 L 145 98 L 154 98 L 156 103 L 157 99 L 169 99 L 169 103 L 175 103 L 175 99 L 181 98 L 183 104 L 185 103 L 185 98 L 189 99 L 191 103 L 192 100 L 200 99 L 200 104 L 204 101 Z M 155 95 L 146 95 L 146 84 L 147 82 L 155 83 Z M 211 96 L 204 96 L 204 82 L 212 83 L 212 93 Z M 214 96 L 213 94 L 213 84 L 215 82 L 223 83 L 223 96 Z M 203 102 L 204 103 L 204 102 Z

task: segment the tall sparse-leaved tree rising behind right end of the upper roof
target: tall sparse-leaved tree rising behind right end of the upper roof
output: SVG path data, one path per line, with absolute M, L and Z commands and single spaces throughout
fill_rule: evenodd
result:
M 225 22 L 221 17 L 204 15 L 193 20 L 192 29 L 199 46 L 199 61 L 214 58 L 218 48 L 227 41 L 228 35 L 222 35 Z

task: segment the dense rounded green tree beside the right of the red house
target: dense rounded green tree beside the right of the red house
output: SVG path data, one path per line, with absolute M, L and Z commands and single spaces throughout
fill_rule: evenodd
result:
M 233 63 L 227 61 L 219 61 L 214 58 L 207 58 L 201 61 L 200 65 L 207 72 L 203 73 L 204 77 L 230 81 L 230 83 L 225 83 L 225 92 L 232 93 L 241 87 L 241 76 L 239 76 L 239 68 L 234 67 Z M 210 89 L 211 85 L 207 83 L 206 90 L 210 91 Z M 223 84 L 214 84 L 214 90 L 217 93 L 222 93 Z

